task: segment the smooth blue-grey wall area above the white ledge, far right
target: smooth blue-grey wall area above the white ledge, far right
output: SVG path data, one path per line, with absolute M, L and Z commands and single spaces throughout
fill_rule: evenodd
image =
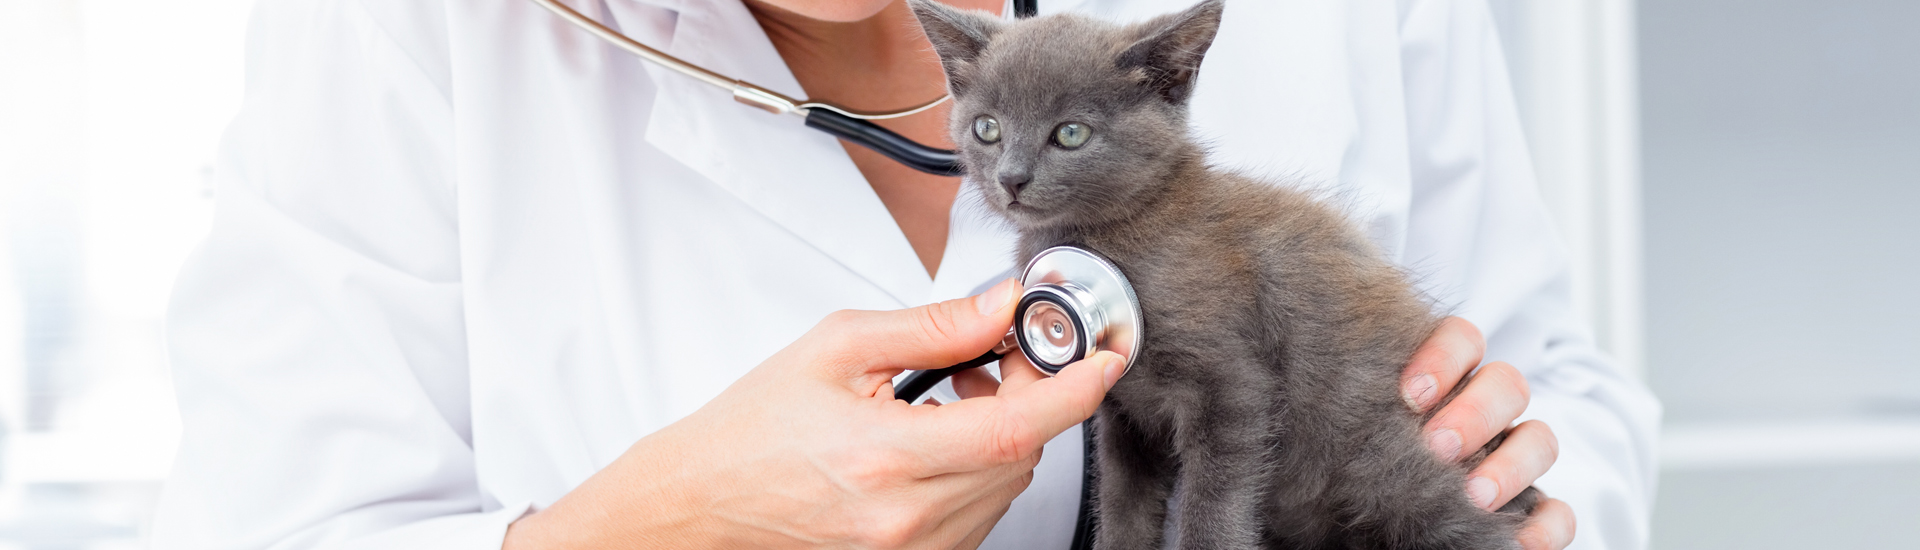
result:
M 1920 2 L 1645 10 L 1647 342 L 1668 415 L 1920 413 Z

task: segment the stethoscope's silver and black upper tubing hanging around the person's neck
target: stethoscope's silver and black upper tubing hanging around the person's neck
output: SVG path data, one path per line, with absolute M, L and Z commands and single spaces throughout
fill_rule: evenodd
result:
M 1039 13 L 1041 10 L 1039 0 L 1012 0 L 1012 2 L 1014 2 L 1014 17 L 1033 17 L 1033 13 Z M 720 87 L 722 90 L 732 92 L 735 102 L 749 104 L 772 112 L 776 115 L 799 115 L 806 119 L 806 127 L 810 129 L 824 131 L 837 138 L 870 148 L 918 171 L 935 175 L 960 175 L 960 163 L 954 160 L 952 150 L 914 142 L 902 135 L 897 135 L 874 123 L 879 119 L 897 119 L 931 110 L 933 106 L 939 106 L 952 96 L 941 96 L 924 106 L 893 113 L 862 113 L 826 102 L 795 100 L 781 92 L 768 90 L 741 79 L 732 79 L 728 75 L 708 71 L 707 67 L 668 56 L 666 52 L 649 48 L 647 44 L 641 44 L 634 38 L 628 38 L 626 35 L 620 35 L 620 31 L 609 29 L 607 25 L 593 21 L 593 17 L 580 15 L 580 12 L 574 12 L 574 8 L 566 8 L 566 4 L 561 4 L 559 0 L 534 0 L 534 4 L 547 8 L 547 12 L 561 15 L 561 19 L 574 23 L 574 27 L 593 33 L 593 37 L 599 37 L 601 40 L 607 40 L 609 44 L 614 44 L 620 50 L 639 56 L 641 60 L 693 77 L 695 81 Z

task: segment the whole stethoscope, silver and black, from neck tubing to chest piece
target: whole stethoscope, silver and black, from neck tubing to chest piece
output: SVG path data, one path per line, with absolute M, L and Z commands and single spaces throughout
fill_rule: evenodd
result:
M 649 48 L 626 35 L 620 35 L 591 17 L 580 15 L 559 0 L 532 0 L 541 8 L 561 15 L 609 44 L 618 46 L 641 60 L 659 63 L 695 81 L 720 87 L 733 94 L 733 100 L 749 104 L 776 115 L 799 115 L 806 127 L 824 131 L 837 138 L 879 152 L 908 167 L 935 173 L 960 175 L 960 163 L 952 150 L 925 146 L 902 135 L 876 125 L 876 119 L 893 119 L 920 113 L 947 102 L 941 96 L 924 106 L 895 113 L 860 113 L 826 102 L 795 100 L 785 94 L 732 79 L 707 67 L 687 63 L 660 50 Z M 1012 0 L 1014 17 L 1033 17 L 1039 13 L 1037 0 Z M 1033 367 L 1046 375 L 1060 373 L 1069 363 L 1091 358 L 1100 350 L 1117 352 L 1133 367 L 1140 350 L 1142 323 L 1140 300 L 1133 294 L 1133 285 L 1119 267 L 1094 252 L 1075 246 L 1054 246 L 1035 254 L 1020 275 L 1025 287 L 1014 308 L 1014 329 L 998 346 L 970 362 L 945 367 L 914 371 L 895 385 L 895 398 L 918 402 L 935 385 L 958 371 L 998 362 L 1002 356 L 1020 350 Z M 1125 371 L 1121 371 L 1125 375 Z M 1073 527 L 1073 548 L 1091 548 L 1092 540 L 1092 435 L 1087 433 L 1087 477 L 1081 479 L 1079 521 Z

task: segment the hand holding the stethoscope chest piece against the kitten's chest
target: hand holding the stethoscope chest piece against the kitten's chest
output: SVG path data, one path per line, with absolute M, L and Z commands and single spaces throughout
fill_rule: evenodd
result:
M 893 398 L 902 369 L 993 348 L 1018 283 L 900 312 L 839 312 L 712 402 L 636 442 L 505 548 L 973 548 L 1123 369 L 1102 352 L 1044 377 L 1002 362 L 960 402 Z M 975 369 L 977 371 L 977 369 Z

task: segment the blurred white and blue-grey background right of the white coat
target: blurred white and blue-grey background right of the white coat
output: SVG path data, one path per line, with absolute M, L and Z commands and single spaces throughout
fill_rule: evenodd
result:
M 1920 2 L 1659 0 L 1626 21 L 1605 2 L 1490 4 L 1542 190 L 1617 352 L 1632 337 L 1609 323 L 1634 323 L 1609 306 L 1634 298 L 1636 258 L 1605 237 L 1644 235 L 1644 365 L 1667 406 L 1653 546 L 1914 546 Z M 1622 27 L 1638 75 L 1584 35 Z M 1622 83 L 1626 102 L 1596 100 Z M 1609 169 L 1636 162 L 1605 127 L 1632 127 L 1594 108 L 1636 88 L 1644 183 L 1628 187 Z

